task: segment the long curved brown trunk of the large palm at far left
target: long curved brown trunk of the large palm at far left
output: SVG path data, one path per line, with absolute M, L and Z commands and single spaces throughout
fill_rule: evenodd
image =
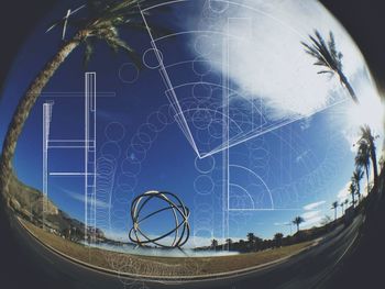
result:
M 0 158 L 0 190 L 3 196 L 7 196 L 8 193 L 8 184 L 12 174 L 12 159 L 16 148 L 16 143 L 33 105 L 57 68 L 85 37 L 87 37 L 87 33 L 85 31 L 79 31 L 73 40 L 66 42 L 56 55 L 45 65 L 43 70 L 38 73 L 28 88 L 24 97 L 20 99 L 8 126 L 2 145 Z

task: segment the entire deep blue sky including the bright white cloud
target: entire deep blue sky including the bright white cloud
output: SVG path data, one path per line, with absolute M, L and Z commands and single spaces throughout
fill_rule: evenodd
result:
M 25 42 L 3 92 L 1 136 L 18 98 L 58 48 L 62 31 L 45 33 L 48 23 L 77 5 L 58 4 Z M 302 227 L 333 215 L 331 203 L 345 198 L 354 169 L 359 126 L 369 123 L 382 135 L 383 107 L 351 37 L 317 1 L 177 1 L 172 7 L 157 20 L 167 19 L 176 35 L 155 41 L 166 75 L 150 36 L 130 31 L 122 36 L 143 55 L 146 69 L 138 71 L 127 55 L 114 56 L 103 44 L 87 68 L 97 73 L 102 92 L 97 97 L 98 226 L 128 240 L 131 201 L 148 190 L 174 192 L 190 209 L 190 246 L 212 237 L 245 238 L 248 232 L 289 234 L 296 215 L 305 218 Z M 180 18 L 180 11 L 189 12 Z M 337 79 L 317 75 L 305 54 L 300 42 L 315 29 L 334 33 L 360 107 Z M 74 52 L 50 81 L 18 144 L 16 174 L 37 189 L 43 102 L 55 102 L 53 140 L 84 136 L 82 52 Z M 52 151 L 48 169 L 81 171 L 82 157 L 79 149 Z M 50 177 L 48 184 L 54 203 L 84 221 L 84 179 Z M 170 218 L 161 220 L 145 224 L 151 235 L 168 227 Z

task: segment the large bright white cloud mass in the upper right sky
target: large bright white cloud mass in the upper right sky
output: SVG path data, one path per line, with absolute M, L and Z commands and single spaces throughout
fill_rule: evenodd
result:
M 337 79 L 317 74 L 320 67 L 312 65 L 315 59 L 300 44 L 308 41 L 315 29 L 324 36 L 330 30 L 333 32 L 349 78 L 365 67 L 349 34 L 318 1 L 239 2 L 241 5 L 230 5 L 223 16 L 213 18 L 210 29 L 235 37 L 246 34 L 245 41 L 237 40 L 239 45 L 230 47 L 229 76 L 242 97 L 263 100 L 265 116 L 276 120 L 311 115 L 342 95 Z M 232 23 L 238 21 L 229 31 L 226 15 L 233 19 Z M 223 69 L 222 46 L 213 43 L 222 43 L 223 34 L 212 35 L 202 43 L 204 51 L 212 51 L 206 59 L 219 71 Z

